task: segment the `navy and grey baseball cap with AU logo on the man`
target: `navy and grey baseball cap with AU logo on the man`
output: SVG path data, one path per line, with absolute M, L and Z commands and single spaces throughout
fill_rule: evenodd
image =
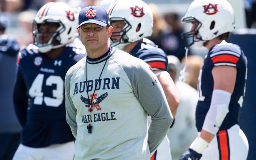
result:
M 78 21 L 79 26 L 77 28 L 86 23 L 94 23 L 102 27 L 110 26 L 109 15 L 100 6 L 89 6 L 80 10 Z

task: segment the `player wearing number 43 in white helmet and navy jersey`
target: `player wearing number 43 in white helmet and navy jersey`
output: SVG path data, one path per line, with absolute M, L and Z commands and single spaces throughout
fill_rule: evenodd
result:
M 64 78 L 86 54 L 74 47 L 78 10 L 49 2 L 33 21 L 34 44 L 19 53 L 14 88 L 22 140 L 13 160 L 72 160 L 74 137 L 66 122 Z M 70 43 L 73 43 L 70 45 Z

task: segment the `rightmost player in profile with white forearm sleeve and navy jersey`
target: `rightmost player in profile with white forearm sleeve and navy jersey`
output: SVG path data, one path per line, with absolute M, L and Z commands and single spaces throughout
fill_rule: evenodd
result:
M 228 43 L 235 28 L 234 10 L 227 0 L 194 0 L 182 22 L 187 47 L 204 46 L 195 111 L 198 136 L 180 160 L 246 160 L 248 141 L 239 127 L 245 95 L 247 58 L 238 45 Z M 186 41 L 184 41 L 186 42 Z

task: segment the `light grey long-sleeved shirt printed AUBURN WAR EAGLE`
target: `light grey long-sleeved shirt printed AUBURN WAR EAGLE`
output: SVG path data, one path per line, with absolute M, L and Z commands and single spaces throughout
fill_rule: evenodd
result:
M 67 123 L 76 138 L 75 160 L 149 160 L 173 120 L 150 66 L 114 47 L 71 67 L 65 94 Z M 147 114 L 152 117 L 149 129 Z

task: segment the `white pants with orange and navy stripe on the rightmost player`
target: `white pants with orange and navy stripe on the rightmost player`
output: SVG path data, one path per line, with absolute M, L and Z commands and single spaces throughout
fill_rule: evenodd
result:
M 204 150 L 200 160 L 246 160 L 248 150 L 246 135 L 236 124 L 227 132 L 218 132 Z

